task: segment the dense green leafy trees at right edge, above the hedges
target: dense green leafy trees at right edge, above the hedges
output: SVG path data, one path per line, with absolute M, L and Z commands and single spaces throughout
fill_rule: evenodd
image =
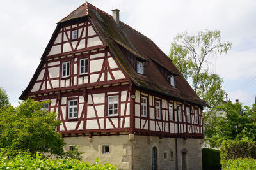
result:
M 240 103 L 232 104 L 230 101 L 218 106 L 221 117 L 216 118 L 215 132 L 209 142 L 211 146 L 220 146 L 225 140 L 243 140 L 256 141 L 256 113 L 254 106 L 244 106 Z M 239 114 L 240 113 L 240 114 Z

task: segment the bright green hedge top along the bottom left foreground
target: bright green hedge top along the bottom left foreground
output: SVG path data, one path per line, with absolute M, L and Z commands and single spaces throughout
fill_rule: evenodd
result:
M 95 164 L 80 162 L 74 159 L 46 159 L 36 153 L 31 155 L 28 152 L 22 152 L 15 157 L 8 157 L 0 152 L 0 169 L 117 169 L 114 165 L 108 163 L 101 165 L 99 159 L 95 159 Z

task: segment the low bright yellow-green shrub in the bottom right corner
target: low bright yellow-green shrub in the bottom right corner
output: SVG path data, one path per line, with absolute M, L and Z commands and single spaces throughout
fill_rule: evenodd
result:
M 226 161 L 223 170 L 229 169 L 256 169 L 256 159 L 252 158 L 238 158 L 238 159 L 229 159 Z

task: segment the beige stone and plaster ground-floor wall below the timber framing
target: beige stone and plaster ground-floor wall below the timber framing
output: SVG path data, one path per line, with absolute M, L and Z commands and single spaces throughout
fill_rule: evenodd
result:
M 176 169 L 175 138 L 159 139 L 157 136 L 113 135 L 65 137 L 65 150 L 77 145 L 85 152 L 83 160 L 94 163 L 116 164 L 119 169 L 152 169 L 152 148 L 157 148 L 157 166 L 159 170 Z M 202 169 L 202 139 L 177 139 L 178 168 L 182 169 L 182 152 L 186 152 L 187 169 Z M 102 146 L 109 145 L 110 153 L 102 154 Z M 166 158 L 164 158 L 164 152 Z M 173 158 L 171 157 L 173 153 Z

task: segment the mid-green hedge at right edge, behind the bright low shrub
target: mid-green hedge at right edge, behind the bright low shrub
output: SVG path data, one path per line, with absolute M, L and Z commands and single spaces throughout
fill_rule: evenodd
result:
M 221 161 L 248 157 L 256 159 L 256 141 L 223 141 L 220 148 L 220 157 Z

